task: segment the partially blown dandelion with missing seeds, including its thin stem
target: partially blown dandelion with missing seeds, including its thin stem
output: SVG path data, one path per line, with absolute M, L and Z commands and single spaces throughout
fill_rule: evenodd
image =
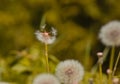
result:
M 41 26 L 41 31 L 36 31 L 36 37 L 45 44 L 46 71 L 49 72 L 48 48 L 47 44 L 52 44 L 56 39 L 56 30 L 52 27 L 50 32 L 46 31 L 46 24 Z

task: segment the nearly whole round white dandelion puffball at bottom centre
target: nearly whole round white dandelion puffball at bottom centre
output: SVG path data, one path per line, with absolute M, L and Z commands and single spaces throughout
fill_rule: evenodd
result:
M 56 76 L 64 84 L 77 84 L 83 79 L 84 69 L 78 61 L 66 60 L 58 64 Z

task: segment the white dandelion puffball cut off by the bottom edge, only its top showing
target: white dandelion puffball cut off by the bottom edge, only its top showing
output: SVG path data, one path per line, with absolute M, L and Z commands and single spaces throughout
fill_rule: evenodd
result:
M 60 82 L 54 75 L 40 74 L 33 80 L 33 84 L 60 84 Z

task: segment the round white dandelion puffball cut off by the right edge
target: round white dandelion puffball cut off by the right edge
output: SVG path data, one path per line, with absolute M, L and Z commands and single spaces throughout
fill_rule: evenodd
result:
M 112 21 L 104 25 L 99 33 L 101 42 L 106 46 L 120 45 L 120 22 Z

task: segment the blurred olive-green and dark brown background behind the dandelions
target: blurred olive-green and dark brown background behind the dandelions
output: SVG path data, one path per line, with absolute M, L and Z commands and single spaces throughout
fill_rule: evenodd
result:
M 120 20 L 120 0 L 0 0 L 0 81 L 31 84 L 45 72 L 44 45 L 34 34 L 45 15 L 57 29 L 56 41 L 48 46 L 51 72 L 65 59 L 77 59 L 90 71 L 96 53 L 105 48 L 99 29 Z M 104 73 L 107 67 L 108 61 Z

